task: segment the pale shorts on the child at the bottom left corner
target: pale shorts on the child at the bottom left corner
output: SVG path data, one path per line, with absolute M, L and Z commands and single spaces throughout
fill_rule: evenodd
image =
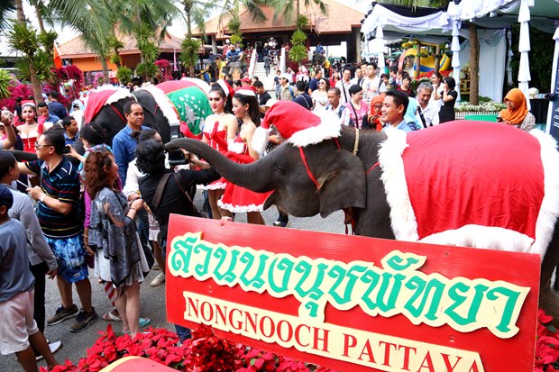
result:
M 33 319 L 33 296 L 30 290 L 0 303 L 0 354 L 14 354 L 29 348 L 29 336 L 37 333 Z

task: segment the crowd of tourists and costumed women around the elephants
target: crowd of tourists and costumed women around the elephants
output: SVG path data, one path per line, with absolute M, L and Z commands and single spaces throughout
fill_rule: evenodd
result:
M 268 59 L 267 74 L 274 42 L 261 50 L 265 64 Z M 227 47 L 225 57 L 235 59 L 235 53 L 234 46 Z M 271 132 L 261 154 L 252 148 L 252 135 L 277 100 L 293 101 L 308 112 L 331 111 L 346 126 L 376 132 L 389 125 L 412 132 L 454 120 L 458 95 L 453 77 L 434 73 L 414 90 L 409 75 L 395 67 L 380 74 L 372 62 L 353 67 L 316 62 L 297 72 L 277 70 L 273 97 L 258 77 L 212 81 L 212 113 L 201 141 L 242 164 L 266 156 L 281 137 Z M 527 131 L 534 127 L 522 92 L 511 90 L 505 103 L 502 122 Z M 0 351 L 15 353 L 25 370 L 36 370 L 36 358 L 57 364 L 52 354 L 61 343 L 45 339 L 45 324 L 71 319 L 69 331 L 78 332 L 98 319 L 90 268 L 113 307 L 102 315 L 105 321 L 121 322 L 122 331 L 132 337 L 151 322 L 142 317 L 142 282 L 151 269 L 160 268 L 150 285 L 165 283 L 170 213 L 200 216 L 192 202 L 198 185 L 204 186 L 209 217 L 234 220 L 246 213 L 247 222 L 264 224 L 261 211 L 269 194 L 228 182 L 184 150 L 190 168 L 170 165 L 160 134 L 142 125 L 141 104 L 125 104 L 126 125 L 112 143 L 103 143 L 101 125 L 83 122 L 84 104 L 73 102 L 69 113 L 59 93 L 51 92 L 48 103 L 18 99 L 14 113 L 2 112 L 1 148 L 37 158 L 17 162 L 12 153 L 0 151 L 0 311 L 6 317 Z M 85 152 L 78 153 L 80 147 Z M 289 216 L 280 211 L 274 225 L 288 223 Z M 27 249 L 19 249 L 23 246 Z M 60 295 L 49 317 L 46 276 L 55 278 Z M 190 337 L 188 329 L 176 327 L 181 340 Z

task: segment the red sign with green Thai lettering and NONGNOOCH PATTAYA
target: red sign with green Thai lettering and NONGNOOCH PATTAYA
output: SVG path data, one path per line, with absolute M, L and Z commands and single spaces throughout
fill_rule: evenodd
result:
M 539 256 L 171 215 L 169 322 L 352 371 L 532 372 Z

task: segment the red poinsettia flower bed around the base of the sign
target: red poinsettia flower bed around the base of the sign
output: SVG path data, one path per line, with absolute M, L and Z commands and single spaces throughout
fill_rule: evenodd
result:
M 551 324 L 552 320 L 543 310 L 539 311 L 534 372 L 559 371 L 559 334 Z M 99 333 L 101 337 L 87 349 L 85 358 L 79 359 L 76 365 L 66 360 L 64 365 L 54 367 L 50 372 L 97 372 L 127 356 L 150 358 L 185 372 L 334 372 L 330 368 L 220 339 L 206 325 L 192 331 L 193 339 L 182 345 L 175 332 L 162 328 L 150 328 L 147 333 L 138 333 L 134 339 L 128 334 L 117 336 L 111 324 L 106 331 Z M 41 372 L 47 372 L 47 369 L 41 367 Z

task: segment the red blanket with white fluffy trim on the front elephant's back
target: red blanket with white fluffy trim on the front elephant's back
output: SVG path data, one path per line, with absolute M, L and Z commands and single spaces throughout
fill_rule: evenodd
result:
M 389 131 L 380 165 L 397 239 L 542 253 L 539 245 L 550 239 L 542 213 L 558 213 L 556 189 L 545 203 L 542 145 L 489 122 Z M 394 159 L 382 153 L 389 149 Z M 401 158 L 394 149 L 403 150 Z M 532 247 L 535 240 L 542 244 Z

